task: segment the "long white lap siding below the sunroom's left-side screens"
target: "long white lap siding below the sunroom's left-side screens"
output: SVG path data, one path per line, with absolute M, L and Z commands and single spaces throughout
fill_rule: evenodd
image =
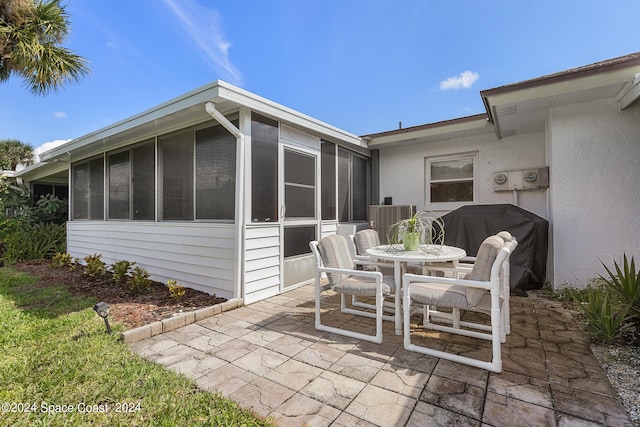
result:
M 107 264 L 135 261 L 152 279 L 233 298 L 234 226 L 210 223 L 68 223 L 67 251 L 102 254 Z

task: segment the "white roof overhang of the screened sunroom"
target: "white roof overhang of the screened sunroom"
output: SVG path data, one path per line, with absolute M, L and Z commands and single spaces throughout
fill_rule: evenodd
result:
M 223 114 L 246 107 L 321 138 L 366 149 L 366 142 L 354 134 L 218 80 L 41 153 L 40 159 L 42 162 L 78 160 L 211 121 L 211 116 L 205 110 L 207 102 L 215 103 L 216 109 Z

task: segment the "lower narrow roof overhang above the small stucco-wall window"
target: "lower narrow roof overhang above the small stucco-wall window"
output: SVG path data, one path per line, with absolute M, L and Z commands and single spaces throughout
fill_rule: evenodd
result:
M 429 141 L 442 141 L 493 132 L 486 114 L 429 123 L 388 132 L 364 135 L 370 149 L 390 148 Z

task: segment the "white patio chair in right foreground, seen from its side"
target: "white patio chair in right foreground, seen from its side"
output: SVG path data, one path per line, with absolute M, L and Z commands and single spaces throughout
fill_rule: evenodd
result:
M 478 250 L 468 279 L 459 277 L 403 276 L 404 347 L 410 351 L 428 354 L 493 372 L 502 371 L 501 343 L 505 338 L 502 307 L 504 291 L 500 280 L 502 266 L 511 254 L 512 245 L 498 236 L 487 237 Z M 487 292 L 489 291 L 489 292 Z M 491 361 L 449 353 L 421 346 L 411 341 L 411 305 L 437 306 L 457 310 L 470 310 L 490 316 L 490 325 L 458 322 L 443 325 L 425 316 L 422 327 L 472 338 L 490 340 Z

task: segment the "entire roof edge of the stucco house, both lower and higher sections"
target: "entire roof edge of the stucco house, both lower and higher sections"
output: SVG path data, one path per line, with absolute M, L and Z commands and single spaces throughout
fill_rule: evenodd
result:
M 362 138 L 369 148 L 477 135 L 491 129 L 498 138 L 542 132 L 549 109 L 616 97 L 620 108 L 640 98 L 640 52 L 535 79 L 480 91 L 486 114 L 396 129 Z

